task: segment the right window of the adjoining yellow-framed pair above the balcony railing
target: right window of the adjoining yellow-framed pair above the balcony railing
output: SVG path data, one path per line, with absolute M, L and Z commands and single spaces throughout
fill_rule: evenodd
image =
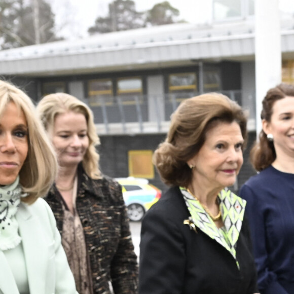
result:
M 124 104 L 142 102 L 143 86 L 141 78 L 121 78 L 117 82 L 117 94 Z

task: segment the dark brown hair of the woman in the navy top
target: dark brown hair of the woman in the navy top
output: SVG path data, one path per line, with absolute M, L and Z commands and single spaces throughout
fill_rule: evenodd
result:
M 293 85 L 282 83 L 268 90 L 265 98 L 263 99 L 261 119 L 270 122 L 273 114 L 274 103 L 287 96 L 294 97 Z M 251 164 L 257 171 L 262 171 L 270 166 L 275 159 L 276 151 L 274 144 L 272 141 L 267 139 L 267 134 L 262 130 L 259 134 L 259 140 L 255 142 L 250 152 Z

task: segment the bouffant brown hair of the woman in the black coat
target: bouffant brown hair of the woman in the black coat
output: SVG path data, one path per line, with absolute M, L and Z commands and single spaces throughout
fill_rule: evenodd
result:
M 187 161 L 199 152 L 207 131 L 218 122 L 234 121 L 239 124 L 246 141 L 246 115 L 227 96 L 207 93 L 182 101 L 171 116 L 165 141 L 159 144 L 153 156 L 162 180 L 167 185 L 187 187 L 192 179 Z

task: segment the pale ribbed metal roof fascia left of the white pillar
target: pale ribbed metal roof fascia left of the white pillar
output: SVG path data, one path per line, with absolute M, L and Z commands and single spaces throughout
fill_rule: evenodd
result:
M 205 40 L 180 40 L 103 48 L 82 53 L 62 53 L 0 60 L 0 74 L 38 74 L 64 71 L 172 62 L 191 59 L 224 58 L 254 54 L 254 36 L 218 36 Z

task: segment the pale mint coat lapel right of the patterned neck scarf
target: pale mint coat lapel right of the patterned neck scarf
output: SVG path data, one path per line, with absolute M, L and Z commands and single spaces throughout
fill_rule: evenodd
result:
M 30 294 L 40 294 L 45 293 L 48 259 L 45 248 L 48 244 L 44 244 L 41 237 L 44 233 L 39 219 L 31 214 L 30 209 L 31 207 L 27 204 L 21 203 L 16 219 L 19 224 L 19 234 L 22 238 Z

